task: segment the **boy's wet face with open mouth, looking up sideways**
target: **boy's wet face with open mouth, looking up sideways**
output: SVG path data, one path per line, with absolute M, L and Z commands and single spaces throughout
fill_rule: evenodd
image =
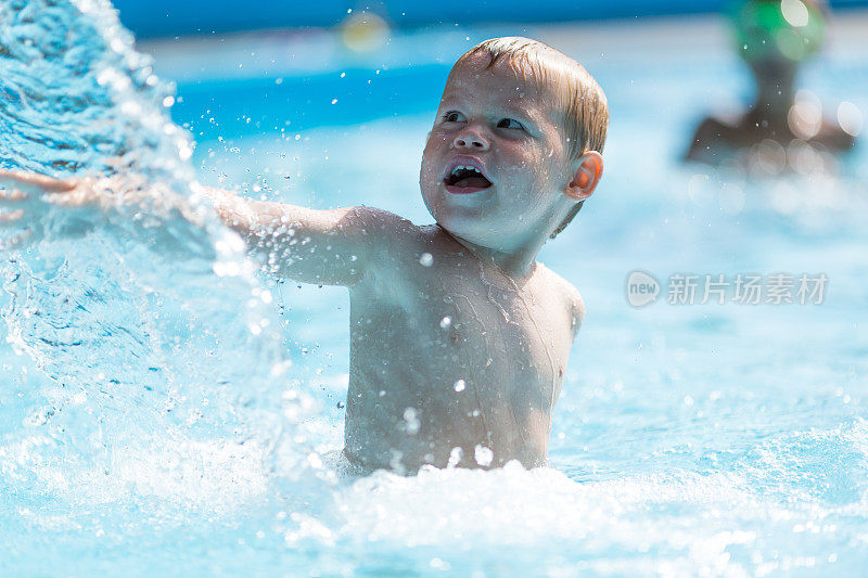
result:
M 572 203 L 554 95 L 485 56 L 457 64 L 422 155 L 420 188 L 450 233 L 514 251 L 548 236 Z M 457 167 L 471 167 L 457 168 Z

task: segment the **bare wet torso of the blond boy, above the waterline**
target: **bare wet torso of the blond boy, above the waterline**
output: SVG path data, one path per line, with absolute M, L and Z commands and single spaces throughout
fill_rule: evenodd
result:
M 541 265 L 483 266 L 438 227 L 407 227 L 350 288 L 346 452 L 369 468 L 546 463 L 578 295 Z

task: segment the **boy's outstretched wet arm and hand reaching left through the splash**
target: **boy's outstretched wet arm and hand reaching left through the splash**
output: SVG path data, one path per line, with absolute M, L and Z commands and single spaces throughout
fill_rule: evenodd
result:
M 90 178 L 59 180 L 0 170 L 0 227 L 38 219 L 34 214 L 40 202 L 103 209 L 124 203 L 108 198 L 105 191 Z M 395 218 L 369 207 L 316 210 L 251 201 L 202 185 L 193 192 L 213 202 L 220 219 L 266 259 L 272 273 L 306 283 L 354 285 L 365 273 L 371 247 L 382 240 L 384 226 Z M 129 202 L 137 198 L 132 195 Z

